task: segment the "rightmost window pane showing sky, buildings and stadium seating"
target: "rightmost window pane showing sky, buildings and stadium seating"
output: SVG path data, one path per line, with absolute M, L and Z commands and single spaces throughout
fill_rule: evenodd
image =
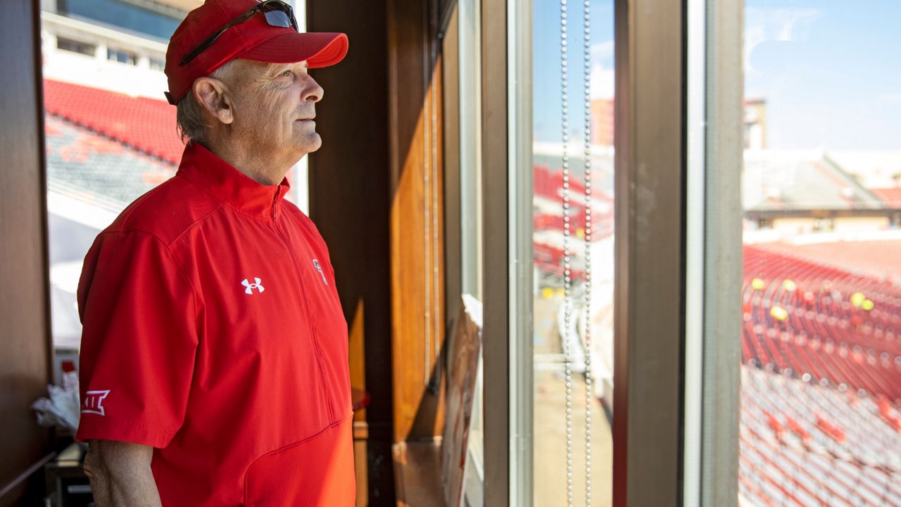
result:
M 901 4 L 745 8 L 739 501 L 898 505 Z

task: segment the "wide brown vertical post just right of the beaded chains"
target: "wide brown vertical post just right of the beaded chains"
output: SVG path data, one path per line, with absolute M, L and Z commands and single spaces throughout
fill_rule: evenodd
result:
M 616 507 L 682 501 L 685 20 L 650 7 L 614 4 Z

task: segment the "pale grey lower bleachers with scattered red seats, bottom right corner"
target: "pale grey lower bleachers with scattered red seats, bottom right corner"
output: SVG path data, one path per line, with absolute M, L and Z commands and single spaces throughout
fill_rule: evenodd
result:
M 879 402 L 742 366 L 740 481 L 755 505 L 901 505 L 901 433 Z

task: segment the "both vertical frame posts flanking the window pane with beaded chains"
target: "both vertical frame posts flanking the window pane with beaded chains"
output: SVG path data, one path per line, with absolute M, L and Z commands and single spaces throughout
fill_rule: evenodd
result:
M 482 0 L 486 505 L 532 504 L 531 13 Z M 742 13 L 614 0 L 618 507 L 737 501 Z

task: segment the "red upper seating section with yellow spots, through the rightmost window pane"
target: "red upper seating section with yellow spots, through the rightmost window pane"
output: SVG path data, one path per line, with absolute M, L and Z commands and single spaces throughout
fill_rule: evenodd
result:
M 746 364 L 901 402 L 901 287 L 757 246 L 744 253 Z

